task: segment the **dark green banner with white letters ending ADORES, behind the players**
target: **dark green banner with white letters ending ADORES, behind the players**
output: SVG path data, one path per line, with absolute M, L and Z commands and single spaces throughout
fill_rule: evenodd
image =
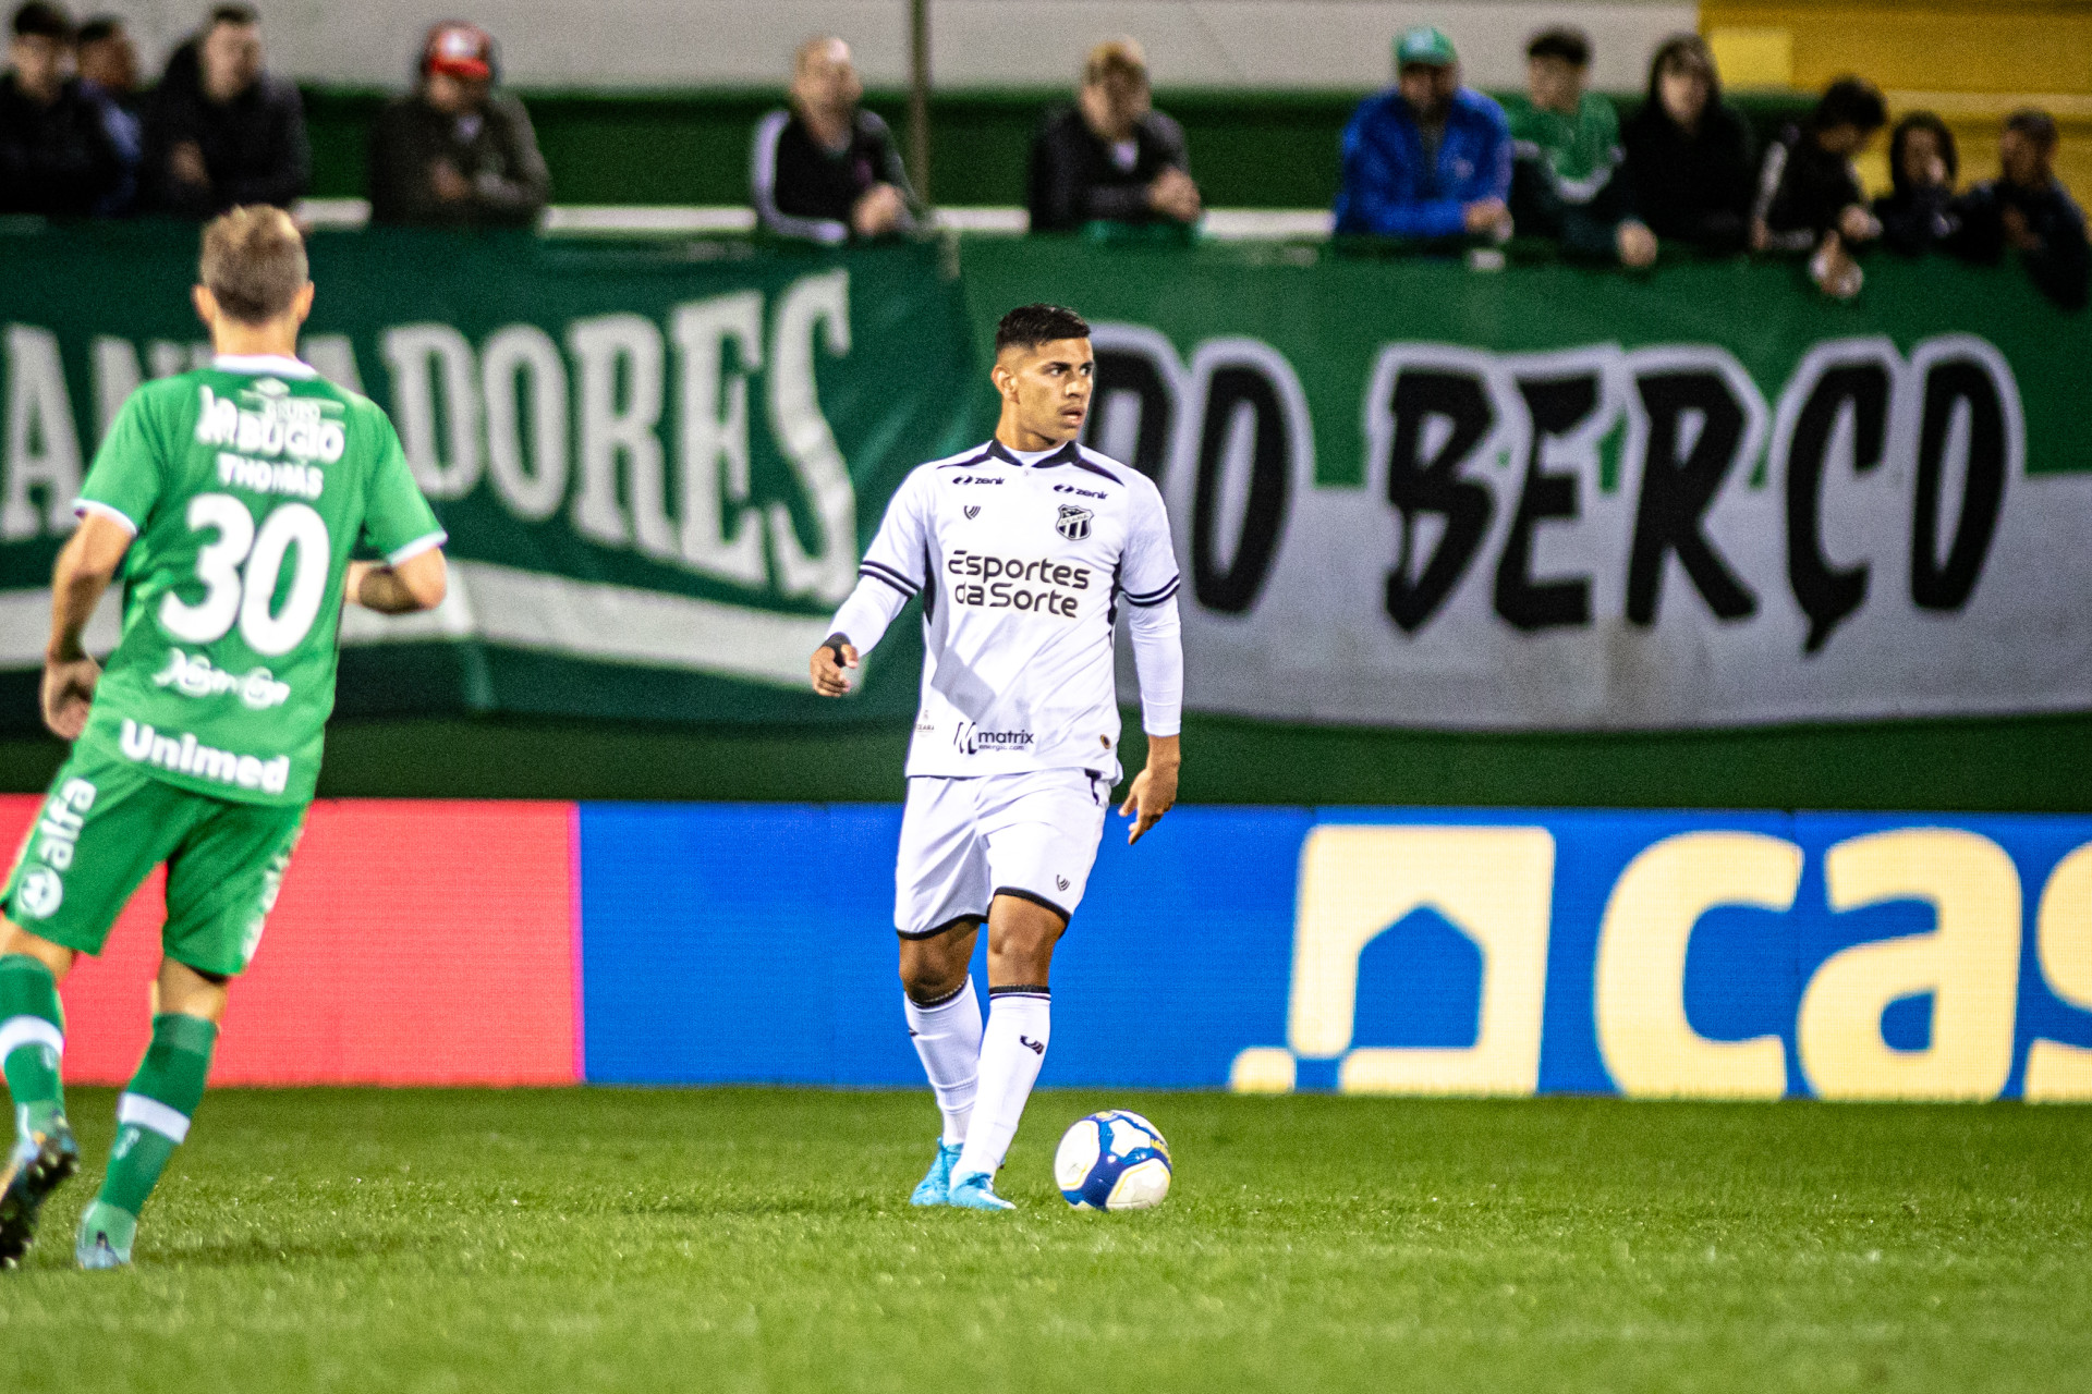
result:
M 0 663 L 25 673 L 94 441 L 142 376 L 209 349 L 192 230 L 0 255 Z M 900 479 L 964 445 L 973 339 L 935 247 L 318 234 L 312 274 L 301 353 L 391 414 L 458 581 L 431 617 L 351 610 L 345 711 L 914 711 L 912 635 L 847 704 L 805 692 L 805 654 Z

